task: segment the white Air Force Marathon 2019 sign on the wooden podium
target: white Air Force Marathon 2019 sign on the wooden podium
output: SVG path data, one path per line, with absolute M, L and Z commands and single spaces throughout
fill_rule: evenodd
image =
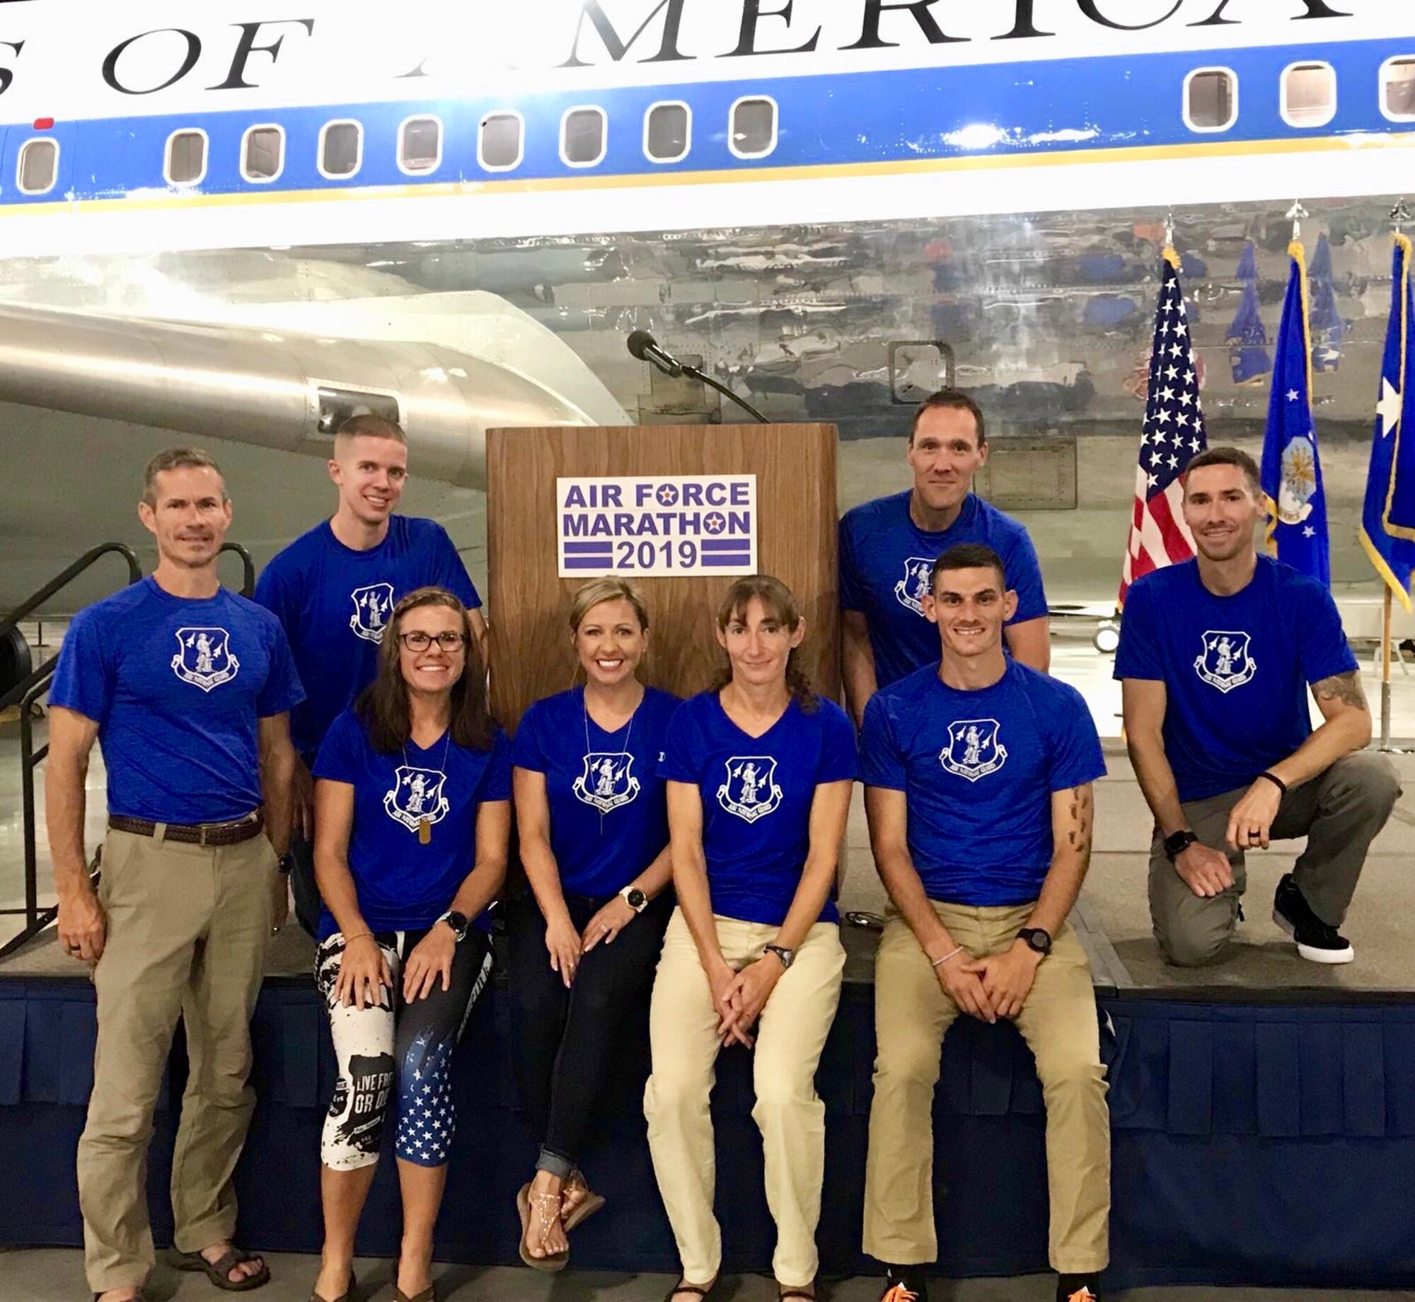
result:
M 560 577 L 757 572 L 754 474 L 555 481 Z

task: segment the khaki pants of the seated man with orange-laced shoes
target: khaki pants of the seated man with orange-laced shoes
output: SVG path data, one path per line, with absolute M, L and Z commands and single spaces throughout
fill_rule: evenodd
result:
M 1030 904 L 935 901 L 934 909 L 974 958 L 1009 948 L 1032 914 Z M 914 933 L 891 910 L 874 962 L 879 1052 L 865 1165 L 865 1251 L 880 1261 L 918 1265 L 938 1255 L 932 1101 L 940 1046 L 957 1016 Z M 1037 968 L 1016 1022 L 1037 1060 L 1047 1107 L 1051 1267 L 1099 1271 L 1109 1260 L 1111 1128 L 1091 967 L 1070 926 Z M 955 1187 L 968 1190 L 969 1175 L 955 1172 Z

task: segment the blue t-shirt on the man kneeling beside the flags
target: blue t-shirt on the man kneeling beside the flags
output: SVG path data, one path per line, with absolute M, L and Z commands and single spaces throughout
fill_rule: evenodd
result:
M 1199 562 L 1155 570 L 1125 599 L 1116 678 L 1165 684 L 1165 756 L 1182 801 L 1249 785 L 1312 732 L 1305 684 L 1356 657 L 1332 594 L 1271 556 L 1228 597 Z

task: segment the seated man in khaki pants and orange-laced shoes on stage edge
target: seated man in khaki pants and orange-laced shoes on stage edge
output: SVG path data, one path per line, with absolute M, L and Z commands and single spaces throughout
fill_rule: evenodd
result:
M 1105 1068 L 1091 968 L 1067 924 L 1105 760 L 1081 693 L 1003 652 L 1016 600 L 990 548 L 947 551 L 924 597 L 941 662 L 865 710 L 870 843 L 891 900 L 874 965 L 865 1175 L 865 1251 L 889 1271 L 882 1302 L 927 1298 L 932 1097 L 959 1012 L 1012 1019 L 1036 1056 L 1057 1298 L 1094 1299 L 1109 1257 Z

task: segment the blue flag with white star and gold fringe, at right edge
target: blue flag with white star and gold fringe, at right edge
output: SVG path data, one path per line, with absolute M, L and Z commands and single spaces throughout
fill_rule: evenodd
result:
M 1371 468 L 1361 511 L 1361 546 L 1399 603 L 1411 609 L 1415 570 L 1415 294 L 1411 242 L 1395 236 L 1391 323 L 1375 401 Z

